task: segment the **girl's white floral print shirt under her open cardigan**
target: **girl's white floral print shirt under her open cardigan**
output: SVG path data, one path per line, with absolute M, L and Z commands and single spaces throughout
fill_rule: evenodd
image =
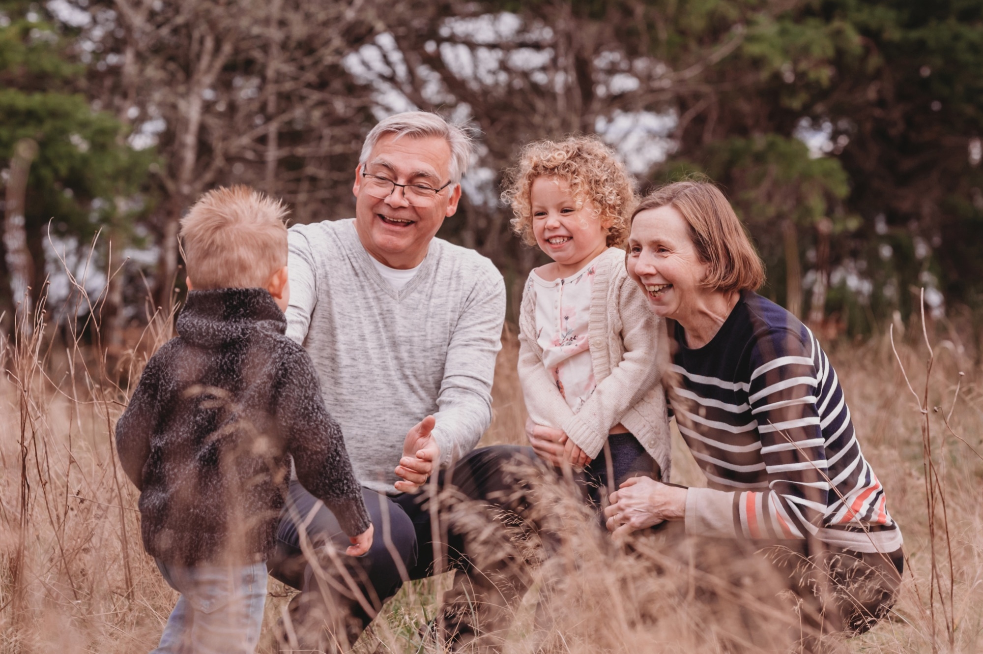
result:
M 543 365 L 574 413 L 597 386 L 587 333 L 594 276 L 594 262 L 553 281 L 533 270 L 526 286 L 527 293 L 536 293 L 536 340 L 543 348 Z

